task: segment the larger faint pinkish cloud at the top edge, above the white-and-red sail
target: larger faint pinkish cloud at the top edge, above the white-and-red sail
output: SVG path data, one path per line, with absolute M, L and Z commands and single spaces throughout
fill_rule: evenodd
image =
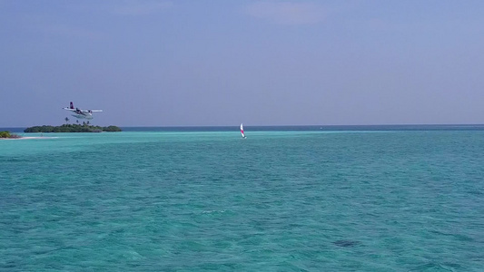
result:
M 259 2 L 248 5 L 245 11 L 273 24 L 317 24 L 326 16 L 323 6 L 301 2 Z

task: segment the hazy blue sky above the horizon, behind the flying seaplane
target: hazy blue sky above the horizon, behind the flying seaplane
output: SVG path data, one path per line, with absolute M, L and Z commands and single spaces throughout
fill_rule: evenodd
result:
M 484 123 L 484 1 L 0 0 L 0 127 Z M 74 119 L 74 118 L 71 118 Z

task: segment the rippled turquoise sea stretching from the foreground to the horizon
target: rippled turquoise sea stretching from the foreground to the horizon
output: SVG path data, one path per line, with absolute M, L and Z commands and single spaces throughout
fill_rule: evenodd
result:
M 484 127 L 245 132 L 0 141 L 0 270 L 484 271 Z

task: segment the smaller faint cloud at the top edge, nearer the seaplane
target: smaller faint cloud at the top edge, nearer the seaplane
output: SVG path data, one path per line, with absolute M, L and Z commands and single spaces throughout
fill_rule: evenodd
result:
M 126 0 L 115 2 L 112 11 L 117 15 L 149 15 L 171 7 L 172 2 Z

